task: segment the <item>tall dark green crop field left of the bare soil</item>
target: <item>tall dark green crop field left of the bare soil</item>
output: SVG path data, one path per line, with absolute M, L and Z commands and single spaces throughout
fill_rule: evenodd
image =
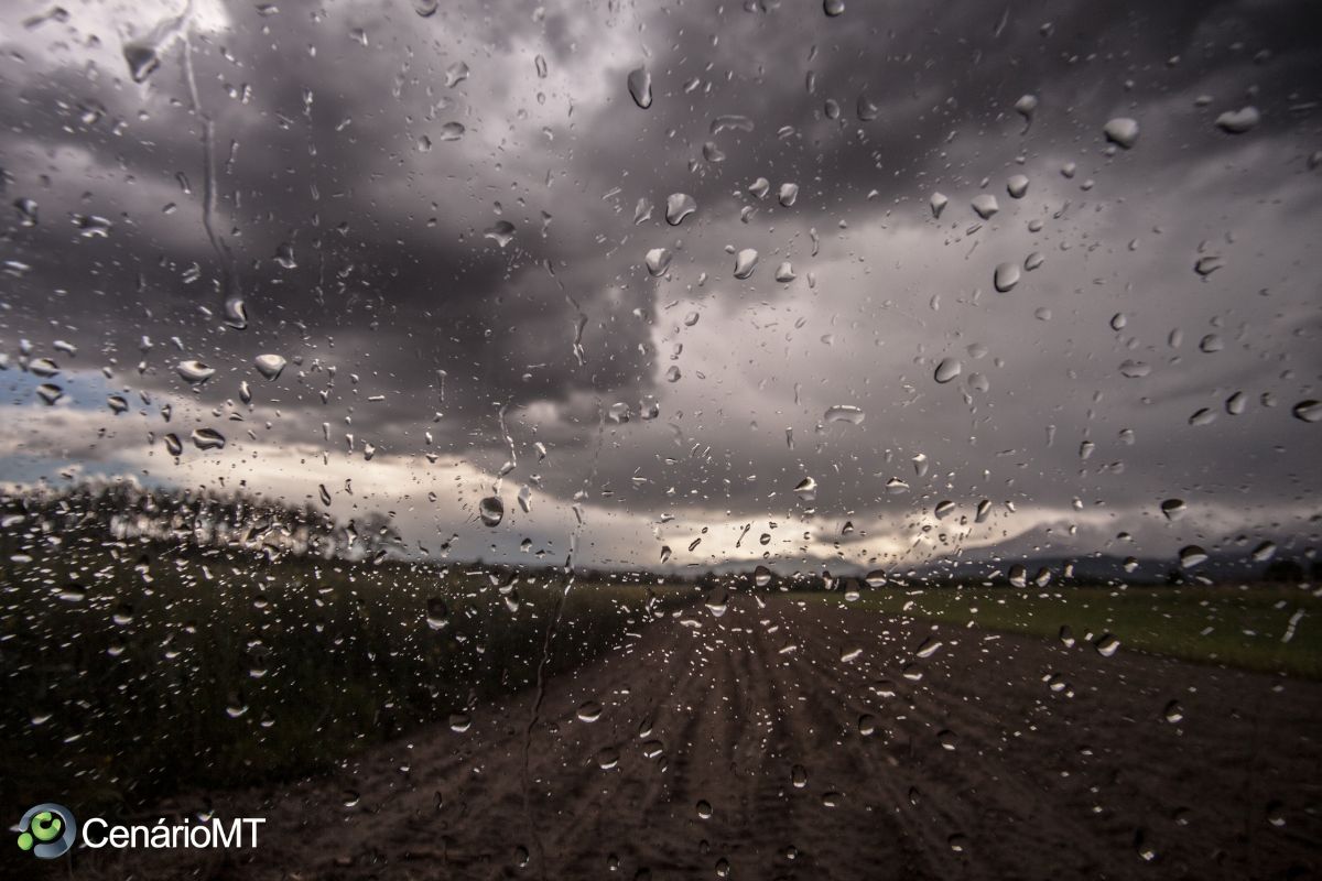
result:
M 493 575 L 134 542 L 5 553 L 0 800 L 115 811 L 279 782 L 527 688 L 563 579 Z M 547 675 L 695 596 L 576 582 Z

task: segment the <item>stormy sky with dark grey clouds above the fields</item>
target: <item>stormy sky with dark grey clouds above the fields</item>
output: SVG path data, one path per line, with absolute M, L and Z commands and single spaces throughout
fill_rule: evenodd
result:
M 1322 11 L 843 7 L 4 4 L 0 481 L 461 559 L 1310 549 Z

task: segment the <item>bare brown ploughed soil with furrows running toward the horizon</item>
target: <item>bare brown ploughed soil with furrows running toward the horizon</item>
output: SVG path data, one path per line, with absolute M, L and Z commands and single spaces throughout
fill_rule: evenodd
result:
M 1322 684 L 783 598 L 683 618 L 550 682 L 530 728 L 531 693 L 330 778 L 217 796 L 217 816 L 268 818 L 258 851 L 83 855 L 74 877 L 1322 868 Z

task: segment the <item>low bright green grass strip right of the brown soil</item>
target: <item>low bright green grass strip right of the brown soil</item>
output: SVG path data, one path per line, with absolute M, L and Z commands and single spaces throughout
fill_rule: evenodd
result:
M 838 593 L 804 596 L 843 602 Z M 1048 639 L 1068 626 L 1077 639 L 1110 633 L 1125 649 L 1322 679 L 1322 596 L 1298 585 L 879 588 L 847 605 Z

